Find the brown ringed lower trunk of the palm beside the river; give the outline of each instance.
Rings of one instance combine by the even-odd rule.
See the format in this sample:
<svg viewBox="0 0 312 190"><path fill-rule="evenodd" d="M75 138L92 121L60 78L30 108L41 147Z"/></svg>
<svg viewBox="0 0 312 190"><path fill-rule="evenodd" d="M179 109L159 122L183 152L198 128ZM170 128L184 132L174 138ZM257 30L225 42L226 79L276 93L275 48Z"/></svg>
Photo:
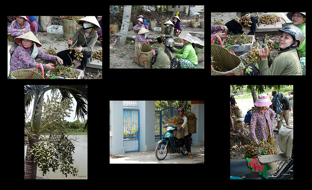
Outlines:
<svg viewBox="0 0 312 190"><path fill-rule="evenodd" d="M31 133L33 136L33 133ZM32 146L34 146L37 142L39 142L39 138L36 136L33 136L35 139L28 140L27 141L27 153L26 158L30 156L30 153L28 151L31 149ZM35 157L32 155L29 159L25 158L24 163L24 172L25 172L25 179L36 179L37 178L37 164L35 164L34 159Z"/></svg>

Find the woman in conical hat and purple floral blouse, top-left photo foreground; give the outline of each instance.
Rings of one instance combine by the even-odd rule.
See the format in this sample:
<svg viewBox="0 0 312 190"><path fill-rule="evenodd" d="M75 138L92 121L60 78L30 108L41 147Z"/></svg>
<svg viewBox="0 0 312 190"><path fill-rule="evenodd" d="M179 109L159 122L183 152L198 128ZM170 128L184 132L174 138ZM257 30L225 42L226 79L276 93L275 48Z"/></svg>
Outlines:
<svg viewBox="0 0 312 190"><path fill-rule="evenodd" d="M36 57L44 60L58 61L60 64L63 64L63 60L60 57L46 54L38 49L38 47L41 47L42 45L31 31L14 38L14 40L21 45L14 50L11 56L11 72L17 69L37 67L39 63L35 61ZM47 70L53 70L53 64L42 65L43 68Z"/></svg>

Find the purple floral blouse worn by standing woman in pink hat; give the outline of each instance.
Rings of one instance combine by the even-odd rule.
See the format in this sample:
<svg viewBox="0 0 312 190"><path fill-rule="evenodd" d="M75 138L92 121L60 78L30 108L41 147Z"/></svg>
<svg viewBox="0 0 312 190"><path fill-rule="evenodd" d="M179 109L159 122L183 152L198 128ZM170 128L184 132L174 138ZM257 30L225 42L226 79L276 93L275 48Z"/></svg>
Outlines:
<svg viewBox="0 0 312 190"><path fill-rule="evenodd" d="M256 109L252 112L251 121L250 121L250 131L252 140L268 140L268 134L266 130L266 120L269 123L270 134L271 137L274 137L273 130L272 130L272 123L274 120L275 112L267 107L264 111L264 115L260 109ZM257 130L257 133L256 131Z"/></svg>

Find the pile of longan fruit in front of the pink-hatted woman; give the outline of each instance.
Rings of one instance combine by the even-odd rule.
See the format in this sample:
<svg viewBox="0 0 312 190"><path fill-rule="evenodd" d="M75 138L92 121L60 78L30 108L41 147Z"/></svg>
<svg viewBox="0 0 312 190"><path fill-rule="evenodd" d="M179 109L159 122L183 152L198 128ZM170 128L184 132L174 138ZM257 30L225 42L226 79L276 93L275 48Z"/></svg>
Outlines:
<svg viewBox="0 0 312 190"><path fill-rule="evenodd" d="M260 149L260 150L259 150ZM261 151L261 153L259 152ZM266 143L265 141L259 141L259 146L255 144L249 144L245 148L245 158L256 158L256 155L270 155L277 154L277 149L273 147L270 143Z"/></svg>

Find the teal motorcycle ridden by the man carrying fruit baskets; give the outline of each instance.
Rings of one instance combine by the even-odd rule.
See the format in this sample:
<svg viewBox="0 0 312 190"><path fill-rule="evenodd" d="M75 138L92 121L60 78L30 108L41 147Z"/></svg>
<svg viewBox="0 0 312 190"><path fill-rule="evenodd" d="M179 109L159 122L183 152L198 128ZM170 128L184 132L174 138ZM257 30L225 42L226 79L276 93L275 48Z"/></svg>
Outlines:
<svg viewBox="0 0 312 190"><path fill-rule="evenodd" d="M181 121L178 121L178 124L181 124ZM164 122L163 122L164 124ZM185 148L183 139L177 139L173 137L173 131L176 131L178 128L174 125L166 127L166 132L163 134L163 139L159 140L155 149L155 157L158 160L163 160L166 158L168 152L178 153L181 158L182 155L188 155L188 151ZM190 144L192 143L192 138L189 138ZM182 154L182 155L181 155Z"/></svg>

